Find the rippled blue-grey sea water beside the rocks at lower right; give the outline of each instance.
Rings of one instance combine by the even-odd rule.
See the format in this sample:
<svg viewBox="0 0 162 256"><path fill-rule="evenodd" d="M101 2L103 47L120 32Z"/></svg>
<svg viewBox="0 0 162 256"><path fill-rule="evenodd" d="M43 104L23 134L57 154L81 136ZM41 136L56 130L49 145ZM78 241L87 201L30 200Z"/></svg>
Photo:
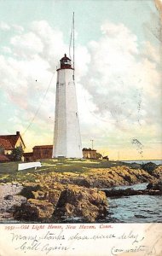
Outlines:
<svg viewBox="0 0 162 256"><path fill-rule="evenodd" d="M118 186L115 189L146 189L147 183ZM105 222L155 223L162 222L161 195L131 195L107 198L108 211Z"/></svg>

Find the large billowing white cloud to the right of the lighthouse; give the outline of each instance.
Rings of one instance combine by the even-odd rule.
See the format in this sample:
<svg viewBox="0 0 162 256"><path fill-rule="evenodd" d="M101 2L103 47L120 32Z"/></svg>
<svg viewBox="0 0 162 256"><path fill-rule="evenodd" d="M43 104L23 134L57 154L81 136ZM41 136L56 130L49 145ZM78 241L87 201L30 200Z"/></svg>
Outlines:
<svg viewBox="0 0 162 256"><path fill-rule="evenodd" d="M149 42L140 44L123 24L106 22L101 32L89 44L89 69L81 80L92 96L94 113L125 132L160 122L158 51Z"/></svg>

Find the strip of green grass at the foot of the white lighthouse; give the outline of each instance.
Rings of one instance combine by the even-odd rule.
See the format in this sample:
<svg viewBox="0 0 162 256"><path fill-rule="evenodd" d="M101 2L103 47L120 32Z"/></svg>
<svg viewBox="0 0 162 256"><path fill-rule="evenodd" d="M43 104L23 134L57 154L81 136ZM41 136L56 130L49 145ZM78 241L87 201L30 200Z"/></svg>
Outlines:
<svg viewBox="0 0 162 256"><path fill-rule="evenodd" d="M18 162L0 163L0 182L34 182L35 174L49 172L74 172L86 173L91 168L108 168L119 165L118 162L107 160L76 160L76 159L59 159L59 160L41 160L42 167L18 171Z"/></svg>

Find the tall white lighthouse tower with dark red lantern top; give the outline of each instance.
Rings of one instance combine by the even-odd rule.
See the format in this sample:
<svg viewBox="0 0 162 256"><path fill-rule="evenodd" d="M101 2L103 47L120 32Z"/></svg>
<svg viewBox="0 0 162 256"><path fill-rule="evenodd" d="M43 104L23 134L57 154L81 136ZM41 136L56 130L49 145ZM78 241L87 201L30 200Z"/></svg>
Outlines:
<svg viewBox="0 0 162 256"><path fill-rule="evenodd" d="M73 71L65 54L57 69L53 158L83 157Z"/></svg>

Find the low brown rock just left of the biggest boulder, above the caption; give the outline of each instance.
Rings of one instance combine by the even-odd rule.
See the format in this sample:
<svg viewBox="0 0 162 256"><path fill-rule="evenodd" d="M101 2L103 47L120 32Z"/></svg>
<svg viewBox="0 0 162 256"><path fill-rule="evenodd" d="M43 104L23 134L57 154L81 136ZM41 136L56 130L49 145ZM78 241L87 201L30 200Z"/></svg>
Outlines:
<svg viewBox="0 0 162 256"><path fill-rule="evenodd" d="M26 221L49 220L54 212L54 207L49 201L29 199L20 207L14 208L14 218Z"/></svg>

